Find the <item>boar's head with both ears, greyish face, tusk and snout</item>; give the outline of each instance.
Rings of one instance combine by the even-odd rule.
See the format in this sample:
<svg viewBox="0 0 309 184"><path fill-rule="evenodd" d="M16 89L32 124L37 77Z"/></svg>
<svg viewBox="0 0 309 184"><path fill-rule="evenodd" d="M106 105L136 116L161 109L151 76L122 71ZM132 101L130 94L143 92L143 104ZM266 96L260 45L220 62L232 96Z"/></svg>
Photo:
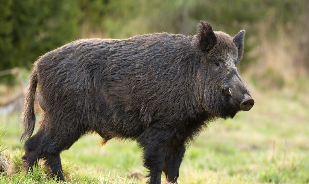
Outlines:
<svg viewBox="0 0 309 184"><path fill-rule="evenodd" d="M202 106L213 117L233 118L240 110L249 111L254 105L235 64L243 56L245 30L233 38L213 31L210 23L201 21L196 46L201 65L198 86Z"/></svg>

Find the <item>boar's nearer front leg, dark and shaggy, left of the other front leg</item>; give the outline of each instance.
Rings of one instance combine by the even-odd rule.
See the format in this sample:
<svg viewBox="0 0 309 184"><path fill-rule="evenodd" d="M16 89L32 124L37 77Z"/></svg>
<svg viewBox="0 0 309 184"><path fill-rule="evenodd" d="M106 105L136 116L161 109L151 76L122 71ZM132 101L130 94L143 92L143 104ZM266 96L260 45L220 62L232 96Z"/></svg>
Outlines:
<svg viewBox="0 0 309 184"><path fill-rule="evenodd" d="M155 127L148 128L137 142L143 148L144 166L149 170L149 184L160 184L164 160L171 141L171 131Z"/></svg>

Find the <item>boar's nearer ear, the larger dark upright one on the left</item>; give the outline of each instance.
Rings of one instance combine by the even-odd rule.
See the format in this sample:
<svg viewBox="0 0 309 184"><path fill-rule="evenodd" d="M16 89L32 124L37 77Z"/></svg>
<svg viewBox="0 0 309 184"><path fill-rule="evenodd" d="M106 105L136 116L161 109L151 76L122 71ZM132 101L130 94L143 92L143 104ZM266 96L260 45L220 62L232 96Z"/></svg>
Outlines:
<svg viewBox="0 0 309 184"><path fill-rule="evenodd" d="M217 39L210 23L200 21L197 28L197 39L199 47L204 52L209 52L214 47Z"/></svg>

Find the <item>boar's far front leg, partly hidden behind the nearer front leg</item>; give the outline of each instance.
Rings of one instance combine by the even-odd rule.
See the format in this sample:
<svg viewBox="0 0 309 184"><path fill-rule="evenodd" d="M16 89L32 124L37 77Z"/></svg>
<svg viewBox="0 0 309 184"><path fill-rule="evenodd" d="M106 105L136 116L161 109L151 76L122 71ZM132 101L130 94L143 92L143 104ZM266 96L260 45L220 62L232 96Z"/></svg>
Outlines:
<svg viewBox="0 0 309 184"><path fill-rule="evenodd" d="M163 172L166 180L171 183L177 183L179 176L179 167L184 158L186 146L184 141L172 140L169 145L169 150L165 157Z"/></svg>

